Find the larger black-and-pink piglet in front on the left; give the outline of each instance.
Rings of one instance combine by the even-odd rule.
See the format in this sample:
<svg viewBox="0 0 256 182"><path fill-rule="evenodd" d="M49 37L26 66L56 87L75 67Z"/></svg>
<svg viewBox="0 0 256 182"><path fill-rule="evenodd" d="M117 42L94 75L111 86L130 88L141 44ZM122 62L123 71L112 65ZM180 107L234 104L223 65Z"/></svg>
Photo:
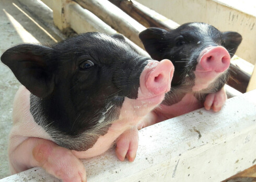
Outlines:
<svg viewBox="0 0 256 182"><path fill-rule="evenodd" d="M21 44L1 60L21 86L9 139L12 173L41 166L63 181L85 181L78 159L116 153L133 161L139 121L170 90L173 65L145 57L120 34L90 32L51 46Z"/></svg>

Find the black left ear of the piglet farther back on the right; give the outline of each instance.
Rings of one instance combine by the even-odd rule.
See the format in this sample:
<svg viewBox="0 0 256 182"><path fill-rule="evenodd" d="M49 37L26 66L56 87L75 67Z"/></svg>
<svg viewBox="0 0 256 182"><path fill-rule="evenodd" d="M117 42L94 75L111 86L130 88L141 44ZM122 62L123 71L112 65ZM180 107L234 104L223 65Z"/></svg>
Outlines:
<svg viewBox="0 0 256 182"><path fill-rule="evenodd" d="M139 33L141 39L148 54L156 60L160 60L160 55L166 47L166 34L169 33L167 30L159 28L148 28Z"/></svg>

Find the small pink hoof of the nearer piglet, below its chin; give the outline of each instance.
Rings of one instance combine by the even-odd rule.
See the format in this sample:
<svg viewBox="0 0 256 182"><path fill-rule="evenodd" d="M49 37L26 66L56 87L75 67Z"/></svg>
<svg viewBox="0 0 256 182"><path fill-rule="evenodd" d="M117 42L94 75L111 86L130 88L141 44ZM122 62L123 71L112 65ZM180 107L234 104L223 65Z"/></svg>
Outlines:
<svg viewBox="0 0 256 182"><path fill-rule="evenodd" d="M115 153L120 161L124 161L125 157L133 162L138 149L138 129L133 127L126 130L118 139Z"/></svg>

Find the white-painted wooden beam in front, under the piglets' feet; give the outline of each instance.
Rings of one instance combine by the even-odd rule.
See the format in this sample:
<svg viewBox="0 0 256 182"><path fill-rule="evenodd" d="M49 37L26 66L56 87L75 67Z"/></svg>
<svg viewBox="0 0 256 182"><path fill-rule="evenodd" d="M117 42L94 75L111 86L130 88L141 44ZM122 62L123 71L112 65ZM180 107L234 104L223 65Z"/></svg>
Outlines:
<svg viewBox="0 0 256 182"><path fill-rule="evenodd" d="M83 160L87 181L222 181L255 164L256 90L220 112L199 109L139 131L134 162L110 150ZM228 167L227 167L228 166ZM0 181L59 181L36 167Z"/></svg>

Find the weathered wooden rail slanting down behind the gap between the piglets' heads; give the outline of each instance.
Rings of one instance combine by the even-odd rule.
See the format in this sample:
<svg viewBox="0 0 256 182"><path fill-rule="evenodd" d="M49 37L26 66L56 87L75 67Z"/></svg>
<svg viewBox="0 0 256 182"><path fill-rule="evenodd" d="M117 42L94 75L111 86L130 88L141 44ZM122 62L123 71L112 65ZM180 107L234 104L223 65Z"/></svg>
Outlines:
<svg viewBox="0 0 256 182"><path fill-rule="evenodd" d="M138 38L139 32L146 28L131 18L120 8L113 5L107 0L74 0L80 6L88 9L102 21L110 25L114 30L124 34L132 42L139 47L144 47L141 40Z"/></svg>

